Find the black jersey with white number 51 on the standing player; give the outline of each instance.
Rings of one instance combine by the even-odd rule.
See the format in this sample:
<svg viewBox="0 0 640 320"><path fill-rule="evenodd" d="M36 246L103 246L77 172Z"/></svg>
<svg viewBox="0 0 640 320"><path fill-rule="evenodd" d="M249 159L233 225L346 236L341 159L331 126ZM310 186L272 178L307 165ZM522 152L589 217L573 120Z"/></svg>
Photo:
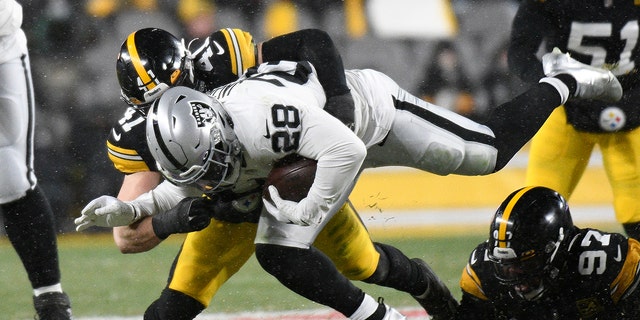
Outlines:
<svg viewBox="0 0 640 320"><path fill-rule="evenodd" d="M610 69L620 80L623 99L615 104L626 116L624 127L640 125L640 2L633 0L524 0L513 20L509 47L510 69L527 82L544 77L536 56L554 47L576 60ZM576 129L603 132L599 123L607 105L599 101L570 101L567 118Z"/></svg>

